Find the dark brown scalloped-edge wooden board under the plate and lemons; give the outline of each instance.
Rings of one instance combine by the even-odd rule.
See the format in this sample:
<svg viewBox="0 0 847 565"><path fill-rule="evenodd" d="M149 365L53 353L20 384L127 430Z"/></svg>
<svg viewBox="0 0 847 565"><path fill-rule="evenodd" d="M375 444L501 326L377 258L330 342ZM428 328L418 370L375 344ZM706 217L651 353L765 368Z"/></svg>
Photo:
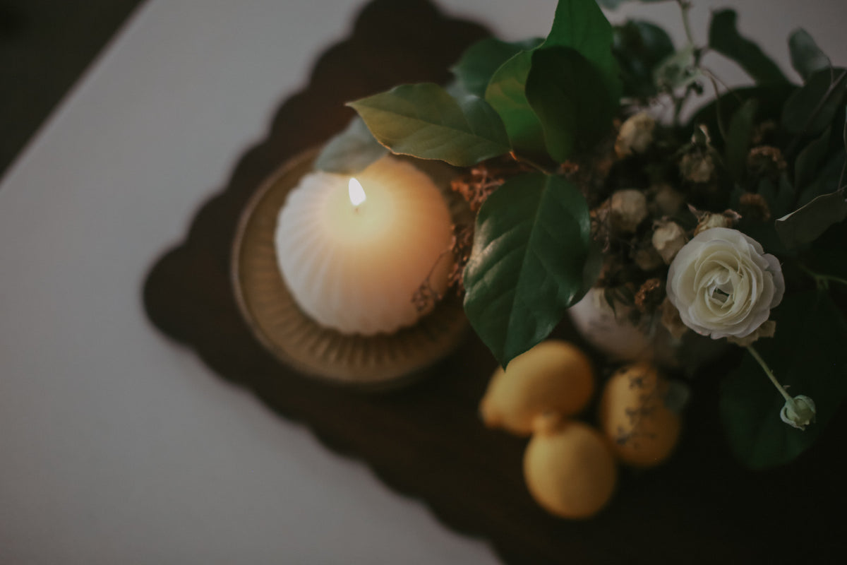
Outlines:
<svg viewBox="0 0 847 565"><path fill-rule="evenodd" d="M363 8L352 37L321 55L307 89L281 103L267 138L244 153L185 240L152 266L144 287L152 322L219 378L253 391L280 418L307 424L330 449L367 462L448 527L490 540L506 562L782 563L804 555L805 563L841 562L844 411L796 463L748 472L734 462L719 424L720 374L706 371L695 380L672 460L647 472L623 470L612 504L571 522L530 499L525 441L480 423L477 405L495 362L474 337L426 379L381 395L297 374L252 337L230 285L230 248L247 199L280 163L342 129L352 117L344 102L401 82L445 82L462 49L486 34L421 0Z"/></svg>

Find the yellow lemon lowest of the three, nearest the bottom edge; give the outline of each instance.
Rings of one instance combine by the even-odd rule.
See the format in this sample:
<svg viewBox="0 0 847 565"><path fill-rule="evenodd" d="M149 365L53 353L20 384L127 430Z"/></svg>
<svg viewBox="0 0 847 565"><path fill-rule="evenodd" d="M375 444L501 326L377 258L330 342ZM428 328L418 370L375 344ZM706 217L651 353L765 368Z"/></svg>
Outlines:
<svg viewBox="0 0 847 565"><path fill-rule="evenodd" d="M612 498L617 468L600 432L565 421L533 435L523 455L523 477L529 494L547 512L588 518Z"/></svg>

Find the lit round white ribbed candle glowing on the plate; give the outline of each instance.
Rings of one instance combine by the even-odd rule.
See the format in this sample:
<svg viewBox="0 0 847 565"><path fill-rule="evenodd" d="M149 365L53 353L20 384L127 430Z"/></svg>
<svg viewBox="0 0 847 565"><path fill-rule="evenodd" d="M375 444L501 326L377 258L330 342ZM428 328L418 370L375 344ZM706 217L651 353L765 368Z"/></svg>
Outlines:
<svg viewBox="0 0 847 565"><path fill-rule="evenodd" d="M424 282L446 290L451 215L429 176L385 157L358 173L303 176L280 211L276 252L291 296L318 324L346 334L414 324Z"/></svg>

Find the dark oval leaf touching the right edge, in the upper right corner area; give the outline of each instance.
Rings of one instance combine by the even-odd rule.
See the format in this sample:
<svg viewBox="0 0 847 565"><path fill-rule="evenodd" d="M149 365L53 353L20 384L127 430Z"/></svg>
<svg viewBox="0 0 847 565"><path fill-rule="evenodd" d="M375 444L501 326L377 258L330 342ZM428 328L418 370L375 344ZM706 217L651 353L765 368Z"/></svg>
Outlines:
<svg viewBox="0 0 847 565"><path fill-rule="evenodd" d="M817 71L785 101L783 128L798 136L822 132L839 111L845 91L847 69Z"/></svg>

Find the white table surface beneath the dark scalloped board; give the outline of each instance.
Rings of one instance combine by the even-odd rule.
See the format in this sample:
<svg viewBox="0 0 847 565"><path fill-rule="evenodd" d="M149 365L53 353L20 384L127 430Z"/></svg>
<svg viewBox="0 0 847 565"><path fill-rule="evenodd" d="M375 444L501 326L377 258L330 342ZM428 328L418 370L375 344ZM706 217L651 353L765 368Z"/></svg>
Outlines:
<svg viewBox="0 0 847 565"><path fill-rule="evenodd" d="M224 383L141 307L152 262L360 4L151 0L3 179L0 562L496 562ZM440 4L507 39L545 34L555 6ZM698 4L705 39L718 3ZM797 25L847 63L842 0L735 4L783 69ZM673 3L613 19L635 11L681 40Z"/></svg>

